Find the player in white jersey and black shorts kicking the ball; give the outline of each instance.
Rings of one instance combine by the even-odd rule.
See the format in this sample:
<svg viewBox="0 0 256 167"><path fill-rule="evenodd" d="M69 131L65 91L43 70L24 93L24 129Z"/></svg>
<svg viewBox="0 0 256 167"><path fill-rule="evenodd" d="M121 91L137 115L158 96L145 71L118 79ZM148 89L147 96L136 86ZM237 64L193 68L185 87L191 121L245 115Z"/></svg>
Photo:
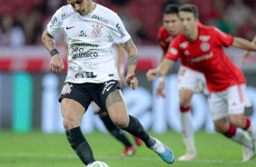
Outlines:
<svg viewBox="0 0 256 167"><path fill-rule="evenodd" d="M64 31L68 44L68 72L59 98L64 116L64 129L77 156L88 165L94 154L81 132L81 121L91 101L106 110L113 123L145 142L164 162L174 162L170 148L153 138L143 125L129 115L118 83L119 76L111 50L113 43L121 44L128 54L126 83L136 89L134 71L138 54L130 34L121 19L110 9L92 0L67 0L56 11L42 35L45 47L52 55L50 69L59 73L63 60L55 48L54 35Z"/></svg>

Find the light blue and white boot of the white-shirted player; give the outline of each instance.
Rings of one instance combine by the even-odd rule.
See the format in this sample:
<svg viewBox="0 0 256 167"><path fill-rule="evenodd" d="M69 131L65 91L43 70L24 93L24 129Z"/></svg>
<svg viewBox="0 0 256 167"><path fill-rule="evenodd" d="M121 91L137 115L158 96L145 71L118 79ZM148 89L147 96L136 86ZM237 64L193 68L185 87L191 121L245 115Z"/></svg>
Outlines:
<svg viewBox="0 0 256 167"><path fill-rule="evenodd" d="M159 140L155 139L156 143L151 147L153 152L156 152L164 162L172 164L174 162L174 154L172 150L164 145Z"/></svg>

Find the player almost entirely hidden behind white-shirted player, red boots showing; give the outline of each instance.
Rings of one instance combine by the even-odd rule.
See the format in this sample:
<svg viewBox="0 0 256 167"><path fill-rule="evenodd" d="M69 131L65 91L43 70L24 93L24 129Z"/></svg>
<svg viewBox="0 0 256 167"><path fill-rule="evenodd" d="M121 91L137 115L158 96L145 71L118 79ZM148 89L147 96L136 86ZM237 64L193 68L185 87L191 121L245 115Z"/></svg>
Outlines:
<svg viewBox="0 0 256 167"><path fill-rule="evenodd" d="M113 49L113 59L114 64L117 68L117 73L119 75L119 83L123 87L127 85L125 83L124 77L124 49L121 45L117 46L118 49ZM117 51L116 51L117 50ZM66 45L66 58L68 56L68 48ZM123 130L118 128L111 120L109 114L106 111L103 111L96 103L92 102L92 106L94 109L94 113L99 114L100 119L103 121L106 129L115 137L118 141L122 142L124 147L124 151L122 156L130 156L136 152L136 147L133 146L133 143L129 141L129 139L123 133ZM135 136L133 136L136 145L140 146L143 144L143 141Z"/></svg>

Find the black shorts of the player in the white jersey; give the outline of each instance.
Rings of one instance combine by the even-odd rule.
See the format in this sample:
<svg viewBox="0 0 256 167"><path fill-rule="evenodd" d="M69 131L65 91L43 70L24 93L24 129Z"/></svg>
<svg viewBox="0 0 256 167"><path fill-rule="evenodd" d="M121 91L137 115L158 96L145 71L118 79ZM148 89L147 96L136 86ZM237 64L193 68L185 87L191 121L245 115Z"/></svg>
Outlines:
<svg viewBox="0 0 256 167"><path fill-rule="evenodd" d="M64 83L59 102L64 98L73 99L81 103L85 110L88 109L92 101L96 103L102 110L106 111L106 98L109 93L115 89L121 89L118 81L110 80L104 83Z"/></svg>

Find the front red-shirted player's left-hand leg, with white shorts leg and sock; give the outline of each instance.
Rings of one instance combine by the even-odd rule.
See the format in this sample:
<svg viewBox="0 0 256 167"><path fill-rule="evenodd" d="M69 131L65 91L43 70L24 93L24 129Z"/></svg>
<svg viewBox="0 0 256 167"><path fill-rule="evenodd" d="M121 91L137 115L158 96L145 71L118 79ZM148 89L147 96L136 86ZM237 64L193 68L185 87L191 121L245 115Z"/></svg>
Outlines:
<svg viewBox="0 0 256 167"><path fill-rule="evenodd" d="M227 121L227 117L229 116L229 105L226 100L226 92L211 93L208 97L209 109L215 131L222 133L224 136L230 138L234 142L241 143L242 145L253 149L251 136L241 128L237 128ZM251 156L252 155L250 152L248 157Z"/></svg>

